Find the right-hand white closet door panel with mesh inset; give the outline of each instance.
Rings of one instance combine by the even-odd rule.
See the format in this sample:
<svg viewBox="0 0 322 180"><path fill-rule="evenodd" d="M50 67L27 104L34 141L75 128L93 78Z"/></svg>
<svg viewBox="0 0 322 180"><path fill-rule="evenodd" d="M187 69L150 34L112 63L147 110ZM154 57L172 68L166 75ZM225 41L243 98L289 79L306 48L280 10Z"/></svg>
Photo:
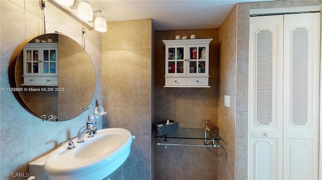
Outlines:
<svg viewBox="0 0 322 180"><path fill-rule="evenodd" d="M284 179L318 179L320 13L284 15Z"/></svg>

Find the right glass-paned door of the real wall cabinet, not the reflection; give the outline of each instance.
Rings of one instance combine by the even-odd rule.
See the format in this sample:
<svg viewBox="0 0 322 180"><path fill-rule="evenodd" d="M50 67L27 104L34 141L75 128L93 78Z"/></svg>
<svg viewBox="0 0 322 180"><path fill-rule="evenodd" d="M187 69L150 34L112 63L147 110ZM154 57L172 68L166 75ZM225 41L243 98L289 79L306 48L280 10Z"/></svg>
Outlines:
<svg viewBox="0 0 322 180"><path fill-rule="evenodd" d="M189 49L189 63L188 75L204 75L206 73L206 49L205 45L188 46Z"/></svg>

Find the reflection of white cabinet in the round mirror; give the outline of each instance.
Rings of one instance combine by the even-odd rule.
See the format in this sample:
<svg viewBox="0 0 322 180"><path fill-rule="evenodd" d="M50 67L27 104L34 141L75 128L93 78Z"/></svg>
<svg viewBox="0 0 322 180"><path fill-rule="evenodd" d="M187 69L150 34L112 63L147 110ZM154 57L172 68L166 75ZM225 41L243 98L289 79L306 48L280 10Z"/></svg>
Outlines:
<svg viewBox="0 0 322 180"><path fill-rule="evenodd" d="M22 85L58 85L58 43L29 43L23 53Z"/></svg>

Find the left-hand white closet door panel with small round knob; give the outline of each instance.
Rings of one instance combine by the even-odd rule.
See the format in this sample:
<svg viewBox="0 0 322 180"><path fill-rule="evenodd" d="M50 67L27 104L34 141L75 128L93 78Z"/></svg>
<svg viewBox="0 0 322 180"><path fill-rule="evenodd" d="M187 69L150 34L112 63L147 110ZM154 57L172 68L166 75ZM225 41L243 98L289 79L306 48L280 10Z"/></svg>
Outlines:
<svg viewBox="0 0 322 180"><path fill-rule="evenodd" d="M281 179L283 15L250 19L250 179Z"/></svg>

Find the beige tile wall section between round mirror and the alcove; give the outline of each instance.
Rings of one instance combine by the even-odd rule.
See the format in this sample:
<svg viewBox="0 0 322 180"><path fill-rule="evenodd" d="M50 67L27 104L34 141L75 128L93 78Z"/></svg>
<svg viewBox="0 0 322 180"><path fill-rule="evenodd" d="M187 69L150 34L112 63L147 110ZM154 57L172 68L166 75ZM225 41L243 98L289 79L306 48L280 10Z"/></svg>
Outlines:
<svg viewBox="0 0 322 180"><path fill-rule="evenodd" d="M102 36L103 127L123 127L136 139L126 179L151 177L152 20L108 22ZM109 178L119 179L120 169Z"/></svg>

